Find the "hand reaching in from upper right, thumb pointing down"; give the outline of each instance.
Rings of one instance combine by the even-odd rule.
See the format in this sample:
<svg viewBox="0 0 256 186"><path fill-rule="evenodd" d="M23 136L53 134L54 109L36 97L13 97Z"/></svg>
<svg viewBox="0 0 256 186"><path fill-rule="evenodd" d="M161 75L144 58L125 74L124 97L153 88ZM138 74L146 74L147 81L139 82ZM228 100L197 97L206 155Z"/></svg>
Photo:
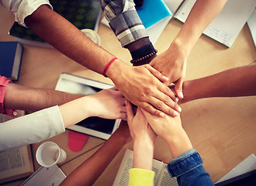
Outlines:
<svg viewBox="0 0 256 186"><path fill-rule="evenodd" d="M177 47L177 45L171 44L168 50L150 62L154 69L168 77L169 80L165 84L175 84L175 93L178 98L184 97L182 84L185 79L186 60L187 53Z"/></svg>

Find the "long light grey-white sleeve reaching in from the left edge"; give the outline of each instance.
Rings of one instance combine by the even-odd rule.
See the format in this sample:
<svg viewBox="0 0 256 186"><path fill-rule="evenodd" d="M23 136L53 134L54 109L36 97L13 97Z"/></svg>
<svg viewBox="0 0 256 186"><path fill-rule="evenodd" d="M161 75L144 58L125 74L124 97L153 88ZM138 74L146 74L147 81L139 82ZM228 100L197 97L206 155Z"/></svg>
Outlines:
<svg viewBox="0 0 256 186"><path fill-rule="evenodd" d="M0 123L0 152L38 143L64 133L61 111L56 105Z"/></svg>

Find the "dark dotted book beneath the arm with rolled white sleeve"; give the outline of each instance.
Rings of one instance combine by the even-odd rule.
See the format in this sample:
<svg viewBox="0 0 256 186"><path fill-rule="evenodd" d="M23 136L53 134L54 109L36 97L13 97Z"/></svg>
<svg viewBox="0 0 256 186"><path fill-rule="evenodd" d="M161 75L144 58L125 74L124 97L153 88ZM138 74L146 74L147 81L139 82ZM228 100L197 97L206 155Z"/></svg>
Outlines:
<svg viewBox="0 0 256 186"><path fill-rule="evenodd" d="M55 12L62 15L78 29L93 29L97 32L101 15L99 2L94 0L50 0L50 4ZM15 40L22 44L51 47L31 29L20 26L17 22L13 24L9 35L15 36Z"/></svg>

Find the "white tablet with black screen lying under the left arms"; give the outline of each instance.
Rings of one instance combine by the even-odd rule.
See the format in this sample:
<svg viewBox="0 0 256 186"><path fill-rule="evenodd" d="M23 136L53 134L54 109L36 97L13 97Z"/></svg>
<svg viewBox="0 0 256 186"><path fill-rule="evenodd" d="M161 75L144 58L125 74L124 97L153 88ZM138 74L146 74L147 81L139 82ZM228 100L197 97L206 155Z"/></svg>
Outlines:
<svg viewBox="0 0 256 186"><path fill-rule="evenodd" d="M112 87L111 84L93 81L73 74L62 73L57 81L55 90L80 95L93 95L98 91ZM112 133L118 128L120 121L121 119L89 117L67 129L108 140Z"/></svg>

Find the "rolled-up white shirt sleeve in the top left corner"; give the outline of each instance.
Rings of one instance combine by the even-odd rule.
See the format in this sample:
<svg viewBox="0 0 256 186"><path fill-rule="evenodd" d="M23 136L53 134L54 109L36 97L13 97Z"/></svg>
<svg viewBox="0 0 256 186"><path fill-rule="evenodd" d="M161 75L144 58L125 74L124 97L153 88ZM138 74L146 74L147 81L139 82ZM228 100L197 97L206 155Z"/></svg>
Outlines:
<svg viewBox="0 0 256 186"><path fill-rule="evenodd" d="M31 15L40 7L40 5L48 5L53 9L48 0L0 0L2 5L5 6L15 16L15 21L21 26L25 26L24 19L26 16Z"/></svg>

